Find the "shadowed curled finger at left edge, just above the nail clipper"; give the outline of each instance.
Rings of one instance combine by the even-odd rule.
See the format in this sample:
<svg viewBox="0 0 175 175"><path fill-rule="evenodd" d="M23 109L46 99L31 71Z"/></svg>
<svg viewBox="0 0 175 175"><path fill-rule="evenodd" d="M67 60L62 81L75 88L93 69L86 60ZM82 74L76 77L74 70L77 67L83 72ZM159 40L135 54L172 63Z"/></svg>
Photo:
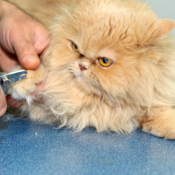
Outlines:
<svg viewBox="0 0 175 175"><path fill-rule="evenodd" d="M10 72L18 65L17 58L9 54L0 46L0 68L4 72Z"/></svg>

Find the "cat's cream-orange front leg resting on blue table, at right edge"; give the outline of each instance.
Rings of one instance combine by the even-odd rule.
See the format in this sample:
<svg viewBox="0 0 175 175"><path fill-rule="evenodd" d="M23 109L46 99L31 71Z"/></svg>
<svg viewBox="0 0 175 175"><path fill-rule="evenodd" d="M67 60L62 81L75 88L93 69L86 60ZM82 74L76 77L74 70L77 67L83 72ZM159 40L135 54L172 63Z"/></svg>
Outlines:
<svg viewBox="0 0 175 175"><path fill-rule="evenodd" d="M165 139L175 139L175 109L154 107L141 120L142 130Z"/></svg>

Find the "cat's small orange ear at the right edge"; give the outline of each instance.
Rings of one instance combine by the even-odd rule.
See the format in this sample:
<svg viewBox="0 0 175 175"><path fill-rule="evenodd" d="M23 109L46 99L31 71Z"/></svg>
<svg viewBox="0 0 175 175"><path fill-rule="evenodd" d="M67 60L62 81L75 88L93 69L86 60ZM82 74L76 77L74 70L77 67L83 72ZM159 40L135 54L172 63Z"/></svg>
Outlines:
<svg viewBox="0 0 175 175"><path fill-rule="evenodd" d="M165 37L169 33L171 33L175 29L175 21L168 20L168 19L160 19L160 31L159 31L159 37Z"/></svg>

